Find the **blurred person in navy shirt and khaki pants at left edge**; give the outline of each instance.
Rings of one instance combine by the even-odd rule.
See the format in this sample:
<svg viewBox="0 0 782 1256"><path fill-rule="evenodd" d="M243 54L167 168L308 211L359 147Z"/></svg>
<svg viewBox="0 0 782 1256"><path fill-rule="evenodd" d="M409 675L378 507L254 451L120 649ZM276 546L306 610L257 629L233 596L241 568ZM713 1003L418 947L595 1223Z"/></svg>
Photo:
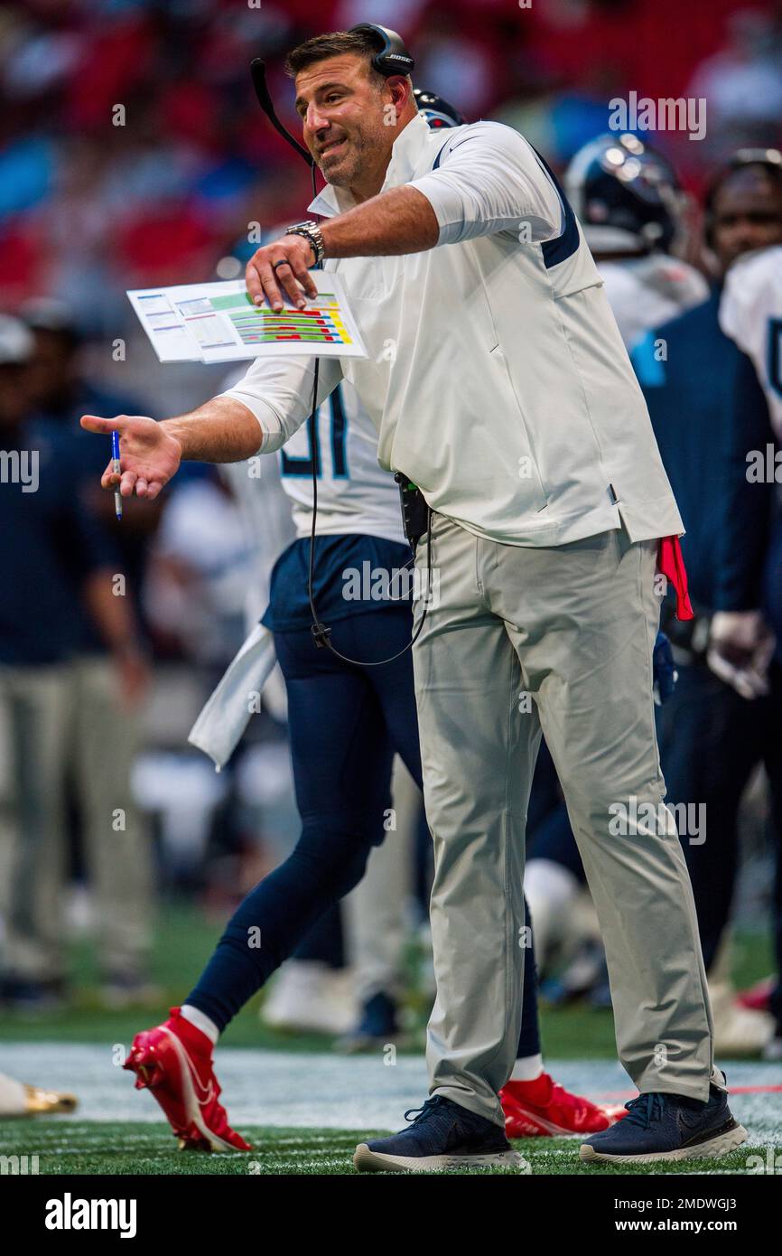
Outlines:
<svg viewBox="0 0 782 1256"><path fill-rule="evenodd" d="M129 759L110 759L112 746L126 736L112 727L124 718L115 691L132 698L143 682L137 628L129 599L113 594L118 553L79 491L90 474L89 456L85 467L74 458L82 435L36 407L35 352L24 323L0 318L0 531L6 538L0 548L0 717L9 740L0 806L0 1001L21 1010L56 1005L65 988L67 786L79 744L82 782L88 777L80 798L89 799L82 831L100 909L107 995L124 995L141 978L149 906L144 848L132 828ZM85 648L105 658L103 702L112 708L108 726L100 726L105 740L100 728L82 725L90 712L97 717L78 679ZM108 795L99 794L105 780ZM113 826L115 808L124 809L129 829Z"/></svg>

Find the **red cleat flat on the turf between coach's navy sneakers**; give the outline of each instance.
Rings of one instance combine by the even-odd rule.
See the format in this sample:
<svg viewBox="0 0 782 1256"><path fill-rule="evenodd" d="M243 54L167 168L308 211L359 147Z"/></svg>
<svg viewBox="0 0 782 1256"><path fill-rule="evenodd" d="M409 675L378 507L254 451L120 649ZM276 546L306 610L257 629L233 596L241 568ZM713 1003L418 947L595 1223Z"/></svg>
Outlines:
<svg viewBox="0 0 782 1256"><path fill-rule="evenodd" d="M508 1081L500 1091L508 1138L596 1134L626 1115L620 1104L595 1104L557 1085L547 1073L535 1081Z"/></svg>

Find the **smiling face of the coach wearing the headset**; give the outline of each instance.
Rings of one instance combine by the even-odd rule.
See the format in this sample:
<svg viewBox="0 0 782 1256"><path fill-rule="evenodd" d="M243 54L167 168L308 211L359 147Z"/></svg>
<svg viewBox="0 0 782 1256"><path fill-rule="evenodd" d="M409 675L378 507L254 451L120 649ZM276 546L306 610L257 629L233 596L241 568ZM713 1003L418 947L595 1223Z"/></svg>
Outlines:
<svg viewBox="0 0 782 1256"><path fill-rule="evenodd" d="M382 79L358 53L300 70L296 111L324 178L360 198L380 191L394 139L415 113L409 80Z"/></svg>

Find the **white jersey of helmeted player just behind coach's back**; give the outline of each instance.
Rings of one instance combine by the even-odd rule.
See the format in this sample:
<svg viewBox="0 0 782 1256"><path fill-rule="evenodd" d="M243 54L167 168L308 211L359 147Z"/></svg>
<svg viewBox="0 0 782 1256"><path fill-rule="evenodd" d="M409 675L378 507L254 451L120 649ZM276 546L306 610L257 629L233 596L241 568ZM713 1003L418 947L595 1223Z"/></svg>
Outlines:
<svg viewBox="0 0 782 1256"><path fill-rule="evenodd" d="M700 305L709 295L700 271L664 252L599 261L597 270L628 349L650 328Z"/></svg>

